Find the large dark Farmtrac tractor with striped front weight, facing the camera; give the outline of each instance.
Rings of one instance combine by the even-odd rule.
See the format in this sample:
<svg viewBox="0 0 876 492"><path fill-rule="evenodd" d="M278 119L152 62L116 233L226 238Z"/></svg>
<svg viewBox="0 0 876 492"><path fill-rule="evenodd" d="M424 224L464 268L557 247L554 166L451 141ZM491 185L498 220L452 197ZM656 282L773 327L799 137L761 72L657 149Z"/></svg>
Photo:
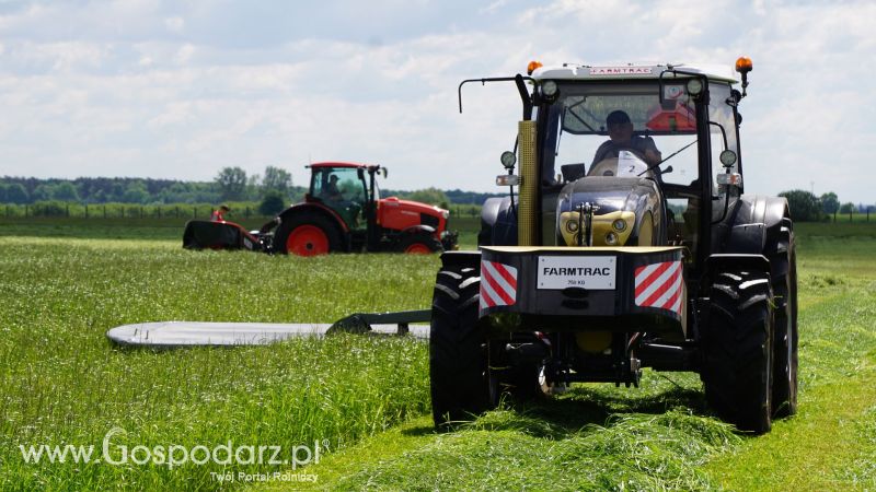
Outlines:
<svg viewBox="0 0 876 492"><path fill-rule="evenodd" d="M751 67L736 62L741 92L731 70L685 65L533 62L460 84L460 112L468 82L512 82L523 112L479 250L441 255L438 429L504 394L637 387L644 367L699 373L708 407L742 432L796 412L793 223L784 198L744 192Z"/></svg>

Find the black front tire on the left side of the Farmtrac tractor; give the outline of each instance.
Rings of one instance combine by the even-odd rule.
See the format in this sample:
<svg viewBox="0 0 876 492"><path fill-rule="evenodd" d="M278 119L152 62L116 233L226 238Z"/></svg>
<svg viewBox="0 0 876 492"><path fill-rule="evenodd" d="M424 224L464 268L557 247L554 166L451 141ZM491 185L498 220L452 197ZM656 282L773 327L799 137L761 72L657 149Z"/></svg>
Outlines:
<svg viewBox="0 0 876 492"><path fill-rule="evenodd" d="M477 325L480 270L448 266L438 271L431 305L429 377L438 430L472 420L489 408L486 337Z"/></svg>

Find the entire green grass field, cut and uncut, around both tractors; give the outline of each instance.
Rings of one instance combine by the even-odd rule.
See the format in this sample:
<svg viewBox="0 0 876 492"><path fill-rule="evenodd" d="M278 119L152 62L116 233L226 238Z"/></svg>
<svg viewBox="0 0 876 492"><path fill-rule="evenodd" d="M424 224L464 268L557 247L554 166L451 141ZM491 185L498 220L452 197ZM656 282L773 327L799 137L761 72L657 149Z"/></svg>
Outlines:
<svg viewBox="0 0 876 492"><path fill-rule="evenodd" d="M154 352L104 337L142 321L424 308L437 257L197 253L168 221L0 222L0 488L297 489L290 465L246 458L250 446L281 447L283 458L298 446L320 449L319 464L293 470L320 489L873 490L876 225L798 224L797 234L800 408L772 433L740 436L713 418L694 374L646 372L639 389L579 385L439 435L423 342ZM25 462L20 448L92 445L96 456L115 427L113 459L130 454L120 465ZM243 459L155 464L174 445L227 444ZM261 480L273 472L286 476Z"/></svg>

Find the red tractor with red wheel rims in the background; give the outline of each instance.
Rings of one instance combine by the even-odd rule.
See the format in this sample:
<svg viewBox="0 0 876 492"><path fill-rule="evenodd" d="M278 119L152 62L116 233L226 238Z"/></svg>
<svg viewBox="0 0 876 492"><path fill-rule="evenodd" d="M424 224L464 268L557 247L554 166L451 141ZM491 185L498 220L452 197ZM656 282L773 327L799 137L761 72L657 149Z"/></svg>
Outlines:
<svg viewBox="0 0 876 492"><path fill-rule="evenodd" d="M275 253L436 253L457 247L457 234L447 230L448 210L396 197L380 198L376 176L385 177L385 167L343 162L308 167L311 178L304 201L284 210L261 230L267 237L276 227L272 239Z"/></svg>

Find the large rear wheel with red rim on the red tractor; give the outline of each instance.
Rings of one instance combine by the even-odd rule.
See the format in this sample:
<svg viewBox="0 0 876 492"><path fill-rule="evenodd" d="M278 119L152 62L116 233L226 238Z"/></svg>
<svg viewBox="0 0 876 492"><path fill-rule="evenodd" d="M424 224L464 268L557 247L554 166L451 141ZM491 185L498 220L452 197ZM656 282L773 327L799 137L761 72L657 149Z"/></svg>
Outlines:
<svg viewBox="0 0 876 492"><path fill-rule="evenodd" d="M280 222L274 234L274 250L283 255L327 255L341 250L341 232L328 219L297 214Z"/></svg>

